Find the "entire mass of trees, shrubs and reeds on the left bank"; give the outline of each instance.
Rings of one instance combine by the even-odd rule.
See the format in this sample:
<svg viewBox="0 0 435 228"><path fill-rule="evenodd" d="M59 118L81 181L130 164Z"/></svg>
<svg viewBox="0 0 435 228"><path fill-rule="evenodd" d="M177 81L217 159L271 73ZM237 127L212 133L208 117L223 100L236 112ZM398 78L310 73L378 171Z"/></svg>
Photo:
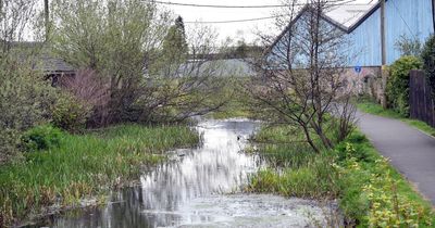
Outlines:
<svg viewBox="0 0 435 228"><path fill-rule="evenodd" d="M53 0L47 17L37 1L2 5L0 227L197 143L187 119L225 102L212 99L224 86L215 31L185 30L153 2Z"/></svg>

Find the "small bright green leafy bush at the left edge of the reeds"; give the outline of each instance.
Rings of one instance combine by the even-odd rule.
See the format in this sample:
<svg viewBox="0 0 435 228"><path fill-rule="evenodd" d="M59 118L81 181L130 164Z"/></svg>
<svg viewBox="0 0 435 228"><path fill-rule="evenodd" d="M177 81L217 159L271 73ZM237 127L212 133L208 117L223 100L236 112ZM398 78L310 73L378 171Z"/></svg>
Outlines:
<svg viewBox="0 0 435 228"><path fill-rule="evenodd" d="M25 151L40 151L60 145L62 131L51 125L34 127L21 137L22 147Z"/></svg>

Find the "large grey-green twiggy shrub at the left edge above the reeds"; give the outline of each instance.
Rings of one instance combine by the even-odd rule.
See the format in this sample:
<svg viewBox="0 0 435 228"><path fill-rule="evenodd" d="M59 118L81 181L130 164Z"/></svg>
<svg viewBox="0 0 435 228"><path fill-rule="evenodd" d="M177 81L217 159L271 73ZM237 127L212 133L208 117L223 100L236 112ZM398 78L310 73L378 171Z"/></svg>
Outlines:
<svg viewBox="0 0 435 228"><path fill-rule="evenodd" d="M0 59L0 163L20 155L21 132L48 122L55 102L57 90L32 68L30 54L17 55Z"/></svg>

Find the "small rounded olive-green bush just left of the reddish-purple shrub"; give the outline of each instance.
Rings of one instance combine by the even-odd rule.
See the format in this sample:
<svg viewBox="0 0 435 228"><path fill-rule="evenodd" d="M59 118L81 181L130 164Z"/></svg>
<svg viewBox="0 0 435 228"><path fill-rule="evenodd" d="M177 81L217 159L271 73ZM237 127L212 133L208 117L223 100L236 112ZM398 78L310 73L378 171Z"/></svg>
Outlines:
<svg viewBox="0 0 435 228"><path fill-rule="evenodd" d="M64 92L54 106L53 124L70 132L82 132L86 128L86 122L91 115L91 105Z"/></svg>

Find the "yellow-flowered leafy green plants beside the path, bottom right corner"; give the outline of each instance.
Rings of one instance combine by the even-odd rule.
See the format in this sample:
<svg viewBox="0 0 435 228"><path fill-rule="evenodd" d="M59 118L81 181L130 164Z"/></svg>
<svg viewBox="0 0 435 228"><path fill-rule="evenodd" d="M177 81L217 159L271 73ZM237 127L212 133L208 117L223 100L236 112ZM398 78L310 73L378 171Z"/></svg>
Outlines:
<svg viewBox="0 0 435 228"><path fill-rule="evenodd" d="M381 226L381 218L388 217L383 213L388 212L400 219L394 218L386 224L409 220L410 224L405 223L401 226L411 227L418 224L420 227L431 227L435 219L432 204L380 155L365 136L359 131L353 132L337 147L336 152L336 163L341 176L340 207L357 225L365 227L374 223L375 226ZM364 191L364 187L369 185L374 190ZM373 197L370 197L371 192ZM397 203L394 203L395 198L398 198ZM375 203L380 203L378 208L375 208ZM396 212L395 207L400 212ZM374 216L375 213L380 215ZM415 214L410 216L412 213Z"/></svg>

